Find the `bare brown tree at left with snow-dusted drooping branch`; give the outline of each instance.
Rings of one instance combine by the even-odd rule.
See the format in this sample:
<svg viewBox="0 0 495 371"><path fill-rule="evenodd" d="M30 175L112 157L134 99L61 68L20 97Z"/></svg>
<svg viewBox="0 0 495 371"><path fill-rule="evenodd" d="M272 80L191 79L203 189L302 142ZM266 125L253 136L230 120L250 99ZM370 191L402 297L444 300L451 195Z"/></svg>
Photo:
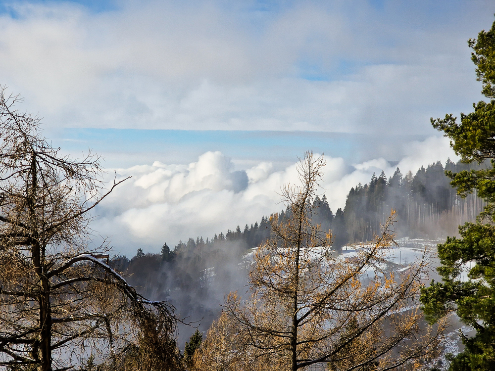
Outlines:
<svg viewBox="0 0 495 371"><path fill-rule="evenodd" d="M120 182L105 190L96 156L61 156L18 102L0 90L0 367L69 370L170 339L173 308L129 286L104 244L88 247L88 212ZM173 341L155 343L174 357Z"/></svg>

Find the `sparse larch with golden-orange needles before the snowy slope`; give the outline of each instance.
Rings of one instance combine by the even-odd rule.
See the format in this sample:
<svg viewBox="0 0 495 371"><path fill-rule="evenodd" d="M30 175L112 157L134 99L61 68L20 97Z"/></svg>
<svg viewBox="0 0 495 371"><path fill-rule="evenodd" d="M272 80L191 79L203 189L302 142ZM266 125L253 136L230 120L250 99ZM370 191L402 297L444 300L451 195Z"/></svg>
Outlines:
<svg viewBox="0 0 495 371"><path fill-rule="evenodd" d="M443 330L422 327L415 309L426 258L400 277L387 270L393 216L356 256L336 256L331 232L311 223L324 164L309 152L301 160L301 186L282 192L289 212L270 220L273 235L254 253L252 294L227 300L239 346L292 371L316 364L328 370L412 368L435 351Z"/></svg>

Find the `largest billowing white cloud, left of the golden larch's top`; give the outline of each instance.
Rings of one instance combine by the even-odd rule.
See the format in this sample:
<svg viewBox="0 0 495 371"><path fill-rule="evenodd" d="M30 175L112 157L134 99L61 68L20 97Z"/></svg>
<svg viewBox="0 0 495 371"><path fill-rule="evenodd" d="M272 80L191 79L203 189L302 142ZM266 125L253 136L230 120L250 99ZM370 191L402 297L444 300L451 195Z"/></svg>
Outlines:
<svg viewBox="0 0 495 371"><path fill-rule="evenodd" d="M126 251L134 244L156 247L165 240L211 237L252 223L281 209L274 190L297 175L294 165L283 172L272 169L261 163L247 172L233 171L230 158L220 152L206 152L188 166L154 163L118 169L119 177L133 178L99 207L98 232L112 235L113 244Z"/></svg>

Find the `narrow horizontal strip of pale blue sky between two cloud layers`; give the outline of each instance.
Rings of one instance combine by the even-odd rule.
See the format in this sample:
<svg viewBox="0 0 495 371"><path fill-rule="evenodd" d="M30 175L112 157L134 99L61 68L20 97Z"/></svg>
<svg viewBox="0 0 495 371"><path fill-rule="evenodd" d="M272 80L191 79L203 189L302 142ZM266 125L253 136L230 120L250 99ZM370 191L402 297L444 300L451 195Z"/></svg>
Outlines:
<svg viewBox="0 0 495 371"><path fill-rule="evenodd" d="M234 158L237 168L263 160L280 163L296 161L306 150L343 157L349 164L386 157L398 161L403 146L390 142L421 141L426 135L349 134L309 131L245 130L140 130L65 128L51 137L65 153L78 155L93 151L104 154L105 165L128 166L130 156L137 163L159 159L165 163L190 163L207 151L220 151ZM373 143L373 145L370 145ZM151 161L152 162L152 161Z"/></svg>

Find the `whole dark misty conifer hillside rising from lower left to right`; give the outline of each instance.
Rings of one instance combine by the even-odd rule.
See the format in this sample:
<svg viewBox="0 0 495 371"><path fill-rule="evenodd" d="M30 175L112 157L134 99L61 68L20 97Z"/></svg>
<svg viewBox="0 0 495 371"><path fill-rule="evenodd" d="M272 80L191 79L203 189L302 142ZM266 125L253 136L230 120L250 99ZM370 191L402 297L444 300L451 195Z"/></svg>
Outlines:
<svg viewBox="0 0 495 371"><path fill-rule="evenodd" d="M398 237L425 237L435 239L456 233L457 225L471 220L485 203L474 193L461 198L450 186L445 172L484 168L485 165L452 163L445 166L436 162L421 167L413 176L402 176L400 169L387 179L382 172L373 175L365 185L352 187L347 195L346 207L331 210L326 195L313 201L312 223L320 224L322 231L334 234L333 248L337 251L346 244L369 241L380 230L390 215L397 212L395 223ZM282 223L290 218L290 208L262 216L243 229L213 234L212 237L189 237L174 247L164 243L161 253L150 254L139 249L136 256L114 257L112 264L126 272L129 282L143 295L154 300L168 300L181 313L201 320L200 329L216 318L225 295L242 290L246 284L249 263L246 255L251 248L266 241L271 233L270 219ZM184 343L189 334L181 334Z"/></svg>

